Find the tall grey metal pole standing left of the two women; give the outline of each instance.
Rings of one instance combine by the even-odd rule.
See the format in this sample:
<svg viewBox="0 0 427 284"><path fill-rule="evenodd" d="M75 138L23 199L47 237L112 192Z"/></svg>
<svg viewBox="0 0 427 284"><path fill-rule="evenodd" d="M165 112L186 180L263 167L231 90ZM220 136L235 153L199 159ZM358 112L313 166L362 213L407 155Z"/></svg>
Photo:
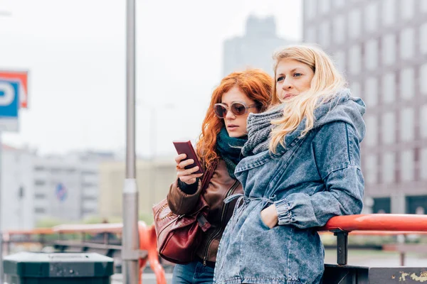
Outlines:
<svg viewBox="0 0 427 284"><path fill-rule="evenodd" d="M123 188L123 283L139 282L138 189L135 166L135 0L126 17L126 178Z"/></svg>

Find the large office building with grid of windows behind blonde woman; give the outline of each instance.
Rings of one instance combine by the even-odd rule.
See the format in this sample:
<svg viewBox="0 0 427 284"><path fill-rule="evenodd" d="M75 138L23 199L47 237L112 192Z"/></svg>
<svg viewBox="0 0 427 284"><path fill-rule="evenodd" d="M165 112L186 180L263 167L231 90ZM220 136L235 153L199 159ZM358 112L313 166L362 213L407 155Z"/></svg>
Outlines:
<svg viewBox="0 0 427 284"><path fill-rule="evenodd" d="M305 0L303 30L367 104L367 209L427 213L427 1Z"/></svg>

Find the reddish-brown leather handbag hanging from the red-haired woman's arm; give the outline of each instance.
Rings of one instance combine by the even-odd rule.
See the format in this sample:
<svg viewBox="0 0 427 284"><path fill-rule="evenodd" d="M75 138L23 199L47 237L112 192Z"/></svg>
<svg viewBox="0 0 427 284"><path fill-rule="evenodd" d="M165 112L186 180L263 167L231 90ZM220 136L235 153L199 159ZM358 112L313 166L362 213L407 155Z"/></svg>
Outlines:
<svg viewBox="0 0 427 284"><path fill-rule="evenodd" d="M202 190L205 190L214 175L216 163L207 170L201 180ZM157 251L159 256L172 263L190 263L194 261L202 231L211 227L206 219L209 206L203 195L190 214L174 214L162 200L152 207L154 213L154 227L157 234Z"/></svg>

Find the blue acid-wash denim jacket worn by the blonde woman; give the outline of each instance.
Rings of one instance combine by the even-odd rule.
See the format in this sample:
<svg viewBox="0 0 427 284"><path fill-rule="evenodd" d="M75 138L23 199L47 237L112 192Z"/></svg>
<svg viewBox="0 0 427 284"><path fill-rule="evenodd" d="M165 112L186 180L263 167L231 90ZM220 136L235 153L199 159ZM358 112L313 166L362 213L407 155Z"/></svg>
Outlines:
<svg viewBox="0 0 427 284"><path fill-rule="evenodd" d="M344 89L315 109L315 127L305 136L303 120L277 154L241 160L236 177L244 196L221 239L214 283L320 283L324 248L316 227L362 211L364 110ZM278 212L273 229L260 219L271 204Z"/></svg>

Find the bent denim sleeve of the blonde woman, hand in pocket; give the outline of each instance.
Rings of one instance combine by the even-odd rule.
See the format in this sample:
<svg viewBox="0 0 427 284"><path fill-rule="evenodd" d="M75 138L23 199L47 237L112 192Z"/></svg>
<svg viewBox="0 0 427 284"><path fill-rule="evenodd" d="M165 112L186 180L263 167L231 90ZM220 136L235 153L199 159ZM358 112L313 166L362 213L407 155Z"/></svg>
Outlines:
<svg viewBox="0 0 427 284"><path fill-rule="evenodd" d="M276 201L279 225L306 229L324 226L334 216L360 214L364 178L359 142L350 124L335 121L322 126L312 141L312 151L325 190L314 195L292 193Z"/></svg>

